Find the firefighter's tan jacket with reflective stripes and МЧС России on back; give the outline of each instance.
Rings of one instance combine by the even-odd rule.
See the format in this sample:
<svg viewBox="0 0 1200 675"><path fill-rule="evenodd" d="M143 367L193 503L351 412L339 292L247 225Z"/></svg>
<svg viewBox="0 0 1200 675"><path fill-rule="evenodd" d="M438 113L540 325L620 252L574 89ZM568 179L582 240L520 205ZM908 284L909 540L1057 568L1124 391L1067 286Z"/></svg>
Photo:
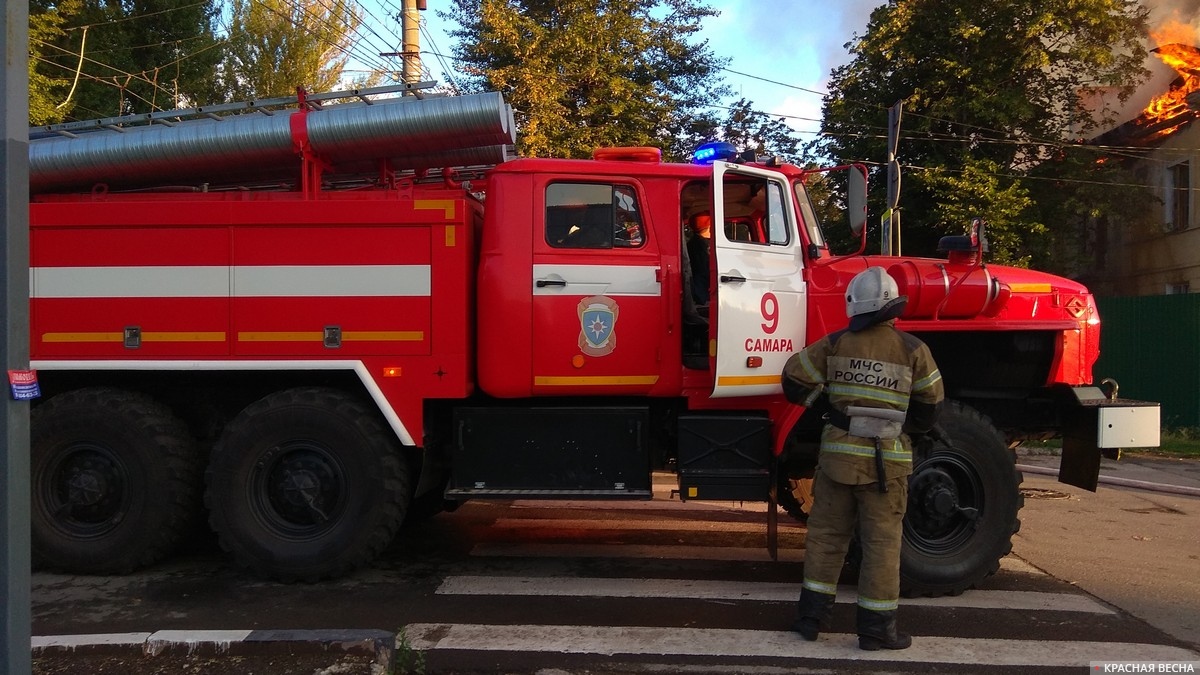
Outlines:
<svg viewBox="0 0 1200 675"><path fill-rule="evenodd" d="M784 394L811 407L822 394L834 412L821 434L821 468L832 479L862 485L878 479L875 440L838 425L846 408L862 406L906 413L904 431L881 441L884 478L912 473L907 434L932 429L944 396L942 376L929 347L886 321L859 331L832 333L793 354L784 366Z"/></svg>

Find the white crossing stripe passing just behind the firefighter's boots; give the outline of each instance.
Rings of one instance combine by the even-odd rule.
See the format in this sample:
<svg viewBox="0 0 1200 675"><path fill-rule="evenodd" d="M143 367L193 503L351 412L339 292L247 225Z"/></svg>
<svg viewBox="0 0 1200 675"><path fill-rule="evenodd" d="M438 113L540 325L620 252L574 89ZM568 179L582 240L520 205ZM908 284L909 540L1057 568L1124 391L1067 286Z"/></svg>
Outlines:
<svg viewBox="0 0 1200 675"><path fill-rule="evenodd" d="M692 579L608 579L578 577L446 577L442 596L563 596L596 598L686 598L704 601L794 602L799 584ZM840 603L854 603L853 589L838 591ZM902 599L904 607L1012 609L1115 614L1082 595L1034 591L972 591L956 597Z"/></svg>

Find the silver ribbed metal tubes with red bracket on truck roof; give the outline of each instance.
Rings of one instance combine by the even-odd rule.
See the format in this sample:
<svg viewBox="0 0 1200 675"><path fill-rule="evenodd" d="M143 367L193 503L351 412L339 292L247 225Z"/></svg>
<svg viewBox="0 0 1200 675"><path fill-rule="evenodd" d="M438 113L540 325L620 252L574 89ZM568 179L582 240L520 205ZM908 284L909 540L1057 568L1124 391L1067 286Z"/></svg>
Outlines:
<svg viewBox="0 0 1200 675"><path fill-rule="evenodd" d="M499 92L438 96L425 91L433 84L300 90L34 127L30 193L293 183L316 193L326 177L391 183L400 171L491 167L511 156L516 125Z"/></svg>

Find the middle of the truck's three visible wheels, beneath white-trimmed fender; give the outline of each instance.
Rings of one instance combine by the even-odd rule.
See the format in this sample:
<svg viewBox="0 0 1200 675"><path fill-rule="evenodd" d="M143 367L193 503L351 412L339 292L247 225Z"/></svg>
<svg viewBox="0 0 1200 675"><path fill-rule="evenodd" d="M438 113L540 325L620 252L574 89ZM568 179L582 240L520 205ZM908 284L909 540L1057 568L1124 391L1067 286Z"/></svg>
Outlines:
<svg viewBox="0 0 1200 675"><path fill-rule="evenodd" d="M251 404L206 473L209 522L251 572L338 577L391 542L409 500L407 464L378 412L343 392L298 388Z"/></svg>

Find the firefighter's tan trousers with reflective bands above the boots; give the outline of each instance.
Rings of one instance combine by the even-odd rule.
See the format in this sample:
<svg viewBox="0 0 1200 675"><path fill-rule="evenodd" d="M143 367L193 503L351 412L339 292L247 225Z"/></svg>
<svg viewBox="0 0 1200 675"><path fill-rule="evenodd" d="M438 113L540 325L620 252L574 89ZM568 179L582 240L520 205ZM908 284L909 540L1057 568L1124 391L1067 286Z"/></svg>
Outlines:
<svg viewBox="0 0 1200 675"><path fill-rule="evenodd" d="M820 593L838 591L846 551L856 526L863 549L858 573L858 605L892 611L900 599L900 539L908 502L908 477L846 485L817 467L812 482L812 513L804 544L804 587Z"/></svg>

